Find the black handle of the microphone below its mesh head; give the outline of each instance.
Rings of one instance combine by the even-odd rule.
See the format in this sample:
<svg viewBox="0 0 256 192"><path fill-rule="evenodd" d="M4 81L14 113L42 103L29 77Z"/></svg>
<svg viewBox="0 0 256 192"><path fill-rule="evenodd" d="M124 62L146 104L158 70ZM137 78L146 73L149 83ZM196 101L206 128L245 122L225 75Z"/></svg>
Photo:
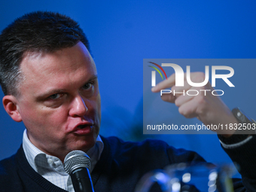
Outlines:
<svg viewBox="0 0 256 192"><path fill-rule="evenodd" d="M70 174L75 192L94 192L90 171L86 167L79 167Z"/></svg>

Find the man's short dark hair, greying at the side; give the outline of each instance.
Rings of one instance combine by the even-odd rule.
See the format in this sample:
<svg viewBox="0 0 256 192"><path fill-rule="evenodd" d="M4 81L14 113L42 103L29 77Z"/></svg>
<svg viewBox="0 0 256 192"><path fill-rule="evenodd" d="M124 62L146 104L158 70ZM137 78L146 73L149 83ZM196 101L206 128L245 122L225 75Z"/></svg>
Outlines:
<svg viewBox="0 0 256 192"><path fill-rule="evenodd" d="M20 63L26 52L53 53L81 41L89 41L75 20L49 11L36 11L17 18L0 35L0 84L5 95L18 96L23 75Z"/></svg>

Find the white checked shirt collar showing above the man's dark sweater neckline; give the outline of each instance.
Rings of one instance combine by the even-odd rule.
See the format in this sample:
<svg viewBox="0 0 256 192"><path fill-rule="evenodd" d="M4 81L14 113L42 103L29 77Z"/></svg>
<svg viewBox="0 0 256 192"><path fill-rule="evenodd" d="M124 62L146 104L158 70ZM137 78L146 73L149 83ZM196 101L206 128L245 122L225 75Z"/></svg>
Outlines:
<svg viewBox="0 0 256 192"><path fill-rule="evenodd" d="M98 162L103 148L102 139L98 136L96 144L87 151L92 162L90 172L93 171L94 166ZM65 171L62 161L59 160L58 157L45 154L43 151L36 148L35 145L29 141L26 130L24 130L23 133L23 150L30 166L32 166L36 172L56 186L70 192L75 192L71 177Z"/></svg>

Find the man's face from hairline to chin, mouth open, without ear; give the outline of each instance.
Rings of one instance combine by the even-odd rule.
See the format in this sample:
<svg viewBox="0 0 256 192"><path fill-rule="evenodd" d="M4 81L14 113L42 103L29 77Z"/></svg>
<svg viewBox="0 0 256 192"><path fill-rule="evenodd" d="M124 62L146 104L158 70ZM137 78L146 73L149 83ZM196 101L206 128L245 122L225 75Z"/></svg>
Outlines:
<svg viewBox="0 0 256 192"><path fill-rule="evenodd" d="M96 66L87 48L54 53L27 53L20 64L17 110L29 140L41 151L63 160L73 150L88 151L100 125Z"/></svg>

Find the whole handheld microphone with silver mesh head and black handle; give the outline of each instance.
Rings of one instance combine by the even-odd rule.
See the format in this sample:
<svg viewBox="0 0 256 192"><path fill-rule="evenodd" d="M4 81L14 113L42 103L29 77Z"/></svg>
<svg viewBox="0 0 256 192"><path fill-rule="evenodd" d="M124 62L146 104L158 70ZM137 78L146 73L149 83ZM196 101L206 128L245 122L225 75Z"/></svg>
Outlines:
<svg viewBox="0 0 256 192"><path fill-rule="evenodd" d="M71 151L64 159L64 169L69 173L75 192L94 192L90 178L90 157L84 151Z"/></svg>

